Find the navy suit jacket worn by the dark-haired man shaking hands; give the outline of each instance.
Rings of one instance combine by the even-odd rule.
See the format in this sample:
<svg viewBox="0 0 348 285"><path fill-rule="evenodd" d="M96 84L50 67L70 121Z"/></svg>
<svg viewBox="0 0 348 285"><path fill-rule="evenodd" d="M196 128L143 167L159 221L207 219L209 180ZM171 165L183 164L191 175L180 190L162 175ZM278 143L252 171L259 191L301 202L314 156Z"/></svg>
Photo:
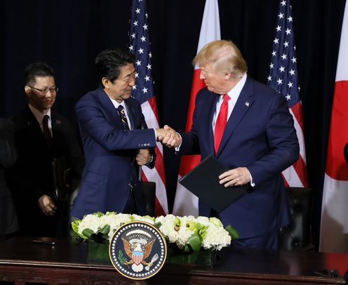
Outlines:
<svg viewBox="0 0 348 285"><path fill-rule="evenodd" d="M122 212L129 183L135 187L139 213L146 213L137 184L135 155L140 148L155 147L156 137L153 129L140 129L145 124L140 103L133 98L125 102L132 131L124 130L119 114L102 88L87 93L76 104L86 166L72 217L82 218L96 211Z"/></svg>

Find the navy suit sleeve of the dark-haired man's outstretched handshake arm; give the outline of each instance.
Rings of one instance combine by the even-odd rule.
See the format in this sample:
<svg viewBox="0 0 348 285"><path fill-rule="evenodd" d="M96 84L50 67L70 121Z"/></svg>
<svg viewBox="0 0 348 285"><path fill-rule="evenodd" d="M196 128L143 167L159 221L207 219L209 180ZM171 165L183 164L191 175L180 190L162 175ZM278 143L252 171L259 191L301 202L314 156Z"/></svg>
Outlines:
<svg viewBox="0 0 348 285"><path fill-rule="evenodd" d="M116 128L107 121L102 106L91 96L85 96L77 102L76 114L83 133L106 150L135 150L156 146L153 129L126 131Z"/></svg>

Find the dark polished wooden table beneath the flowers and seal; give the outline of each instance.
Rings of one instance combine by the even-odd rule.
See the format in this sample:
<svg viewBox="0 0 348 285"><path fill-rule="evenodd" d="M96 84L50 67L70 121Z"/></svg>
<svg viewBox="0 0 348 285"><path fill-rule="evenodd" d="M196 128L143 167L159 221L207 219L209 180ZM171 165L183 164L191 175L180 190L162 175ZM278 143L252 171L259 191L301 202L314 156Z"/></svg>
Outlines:
<svg viewBox="0 0 348 285"><path fill-rule="evenodd" d="M224 248L213 268L164 265L156 276L135 282L111 263L87 260L85 244L56 239L55 246L15 237L0 241L0 283L48 284L346 284L341 276L315 271L348 267L348 254L237 250Z"/></svg>

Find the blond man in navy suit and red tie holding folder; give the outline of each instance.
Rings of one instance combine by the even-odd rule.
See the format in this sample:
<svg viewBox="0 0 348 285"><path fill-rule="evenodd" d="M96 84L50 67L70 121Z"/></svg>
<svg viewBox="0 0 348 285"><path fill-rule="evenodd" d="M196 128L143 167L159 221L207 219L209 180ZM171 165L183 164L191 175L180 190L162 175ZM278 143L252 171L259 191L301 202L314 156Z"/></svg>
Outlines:
<svg viewBox="0 0 348 285"><path fill-rule="evenodd" d="M161 138L181 154L215 155L230 170L219 176L225 187L250 185L250 192L220 213L199 201L201 216L217 215L239 232L234 246L278 248L279 228L289 221L281 171L298 157L299 145L286 99L246 75L232 41L213 41L194 58L206 88L196 96L189 133ZM168 126L165 128L169 129Z"/></svg>

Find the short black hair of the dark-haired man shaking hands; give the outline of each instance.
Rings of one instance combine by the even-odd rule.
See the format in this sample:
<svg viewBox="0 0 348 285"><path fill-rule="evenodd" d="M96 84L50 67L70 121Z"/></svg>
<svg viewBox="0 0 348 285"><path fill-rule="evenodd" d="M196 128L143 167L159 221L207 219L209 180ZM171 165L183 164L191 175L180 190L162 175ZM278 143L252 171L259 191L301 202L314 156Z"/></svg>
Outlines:
<svg viewBox="0 0 348 285"><path fill-rule="evenodd" d="M114 82L119 77L120 67L133 63L135 56L121 48L107 49L95 58L95 71L102 86L102 78Z"/></svg>

